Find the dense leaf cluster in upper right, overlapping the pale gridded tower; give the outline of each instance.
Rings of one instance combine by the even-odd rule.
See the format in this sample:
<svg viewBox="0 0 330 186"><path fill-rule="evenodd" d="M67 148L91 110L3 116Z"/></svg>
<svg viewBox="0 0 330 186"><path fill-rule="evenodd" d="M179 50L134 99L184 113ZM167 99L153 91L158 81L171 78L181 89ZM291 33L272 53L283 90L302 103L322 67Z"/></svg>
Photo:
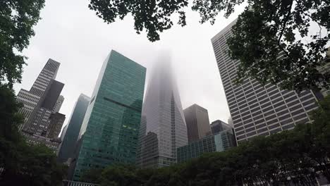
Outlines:
<svg viewBox="0 0 330 186"><path fill-rule="evenodd" d="M228 42L231 57L241 62L238 80L255 77L296 90L329 88L330 73L317 69L330 62L325 56L329 11L330 2L322 0L251 1Z"/></svg>

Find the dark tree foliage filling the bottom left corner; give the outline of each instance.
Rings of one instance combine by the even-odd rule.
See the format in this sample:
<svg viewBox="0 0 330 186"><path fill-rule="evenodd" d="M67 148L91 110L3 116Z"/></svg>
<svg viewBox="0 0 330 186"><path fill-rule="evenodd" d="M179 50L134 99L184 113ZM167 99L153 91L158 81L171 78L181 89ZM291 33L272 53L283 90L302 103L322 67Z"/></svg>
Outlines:
<svg viewBox="0 0 330 186"><path fill-rule="evenodd" d="M0 85L0 185L61 185L66 166L44 145L28 145L18 132L23 117L13 89Z"/></svg>

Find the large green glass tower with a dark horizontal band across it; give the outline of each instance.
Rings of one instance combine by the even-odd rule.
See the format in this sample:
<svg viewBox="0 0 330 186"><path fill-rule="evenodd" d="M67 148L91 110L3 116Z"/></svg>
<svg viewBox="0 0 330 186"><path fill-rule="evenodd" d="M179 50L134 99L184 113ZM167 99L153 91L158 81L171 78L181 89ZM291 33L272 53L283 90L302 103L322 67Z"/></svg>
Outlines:
<svg viewBox="0 0 330 186"><path fill-rule="evenodd" d="M111 51L87 108L74 180L90 168L135 163L146 68Z"/></svg>

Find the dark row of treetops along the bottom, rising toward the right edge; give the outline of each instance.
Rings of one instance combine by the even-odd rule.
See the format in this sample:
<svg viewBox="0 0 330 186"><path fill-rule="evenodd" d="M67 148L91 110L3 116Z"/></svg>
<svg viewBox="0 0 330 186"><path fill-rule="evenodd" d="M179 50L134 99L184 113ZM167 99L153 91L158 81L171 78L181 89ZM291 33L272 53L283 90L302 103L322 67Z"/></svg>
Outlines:
<svg viewBox="0 0 330 186"><path fill-rule="evenodd" d="M312 111L312 123L269 137L257 136L238 147L202 155L159 169L110 166L101 185L316 185L330 182L330 97Z"/></svg>

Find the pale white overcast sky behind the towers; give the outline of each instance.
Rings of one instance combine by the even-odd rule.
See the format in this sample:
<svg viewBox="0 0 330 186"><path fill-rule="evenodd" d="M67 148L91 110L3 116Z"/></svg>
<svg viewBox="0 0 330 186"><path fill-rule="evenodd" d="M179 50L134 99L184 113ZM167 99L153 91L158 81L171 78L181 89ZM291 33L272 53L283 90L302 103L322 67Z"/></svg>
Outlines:
<svg viewBox="0 0 330 186"><path fill-rule="evenodd" d="M160 41L152 43L144 33L135 33L133 17L107 25L87 8L88 3L88 0L46 1L42 20L35 26L35 37L24 52L28 65L22 83L15 85L16 94L21 88L30 89L48 58L59 61L56 80L65 84L60 112L66 115L66 125L80 93L92 94L111 49L145 66L147 78L159 51L166 50L171 51L183 109L198 104L209 111L210 122L217 119L227 122L230 114L211 38L237 18L242 6L228 19L218 16L214 25L200 25L198 13L188 11L187 26L175 25L161 33Z"/></svg>

